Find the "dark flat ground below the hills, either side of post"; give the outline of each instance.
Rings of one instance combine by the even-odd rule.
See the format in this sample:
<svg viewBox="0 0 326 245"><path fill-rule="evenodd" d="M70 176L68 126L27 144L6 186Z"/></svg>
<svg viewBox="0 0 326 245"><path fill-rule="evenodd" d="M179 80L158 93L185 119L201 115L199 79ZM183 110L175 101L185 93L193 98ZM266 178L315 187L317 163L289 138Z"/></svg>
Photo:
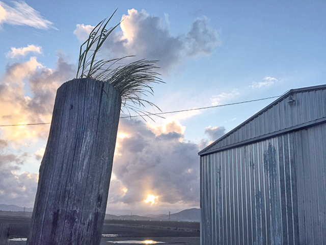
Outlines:
<svg viewBox="0 0 326 245"><path fill-rule="evenodd" d="M30 217L0 216L0 223L9 224L9 236L27 237ZM199 245L198 222L150 221L150 220L104 220L102 234L116 237L103 237L101 245L115 244L111 241L154 240L165 242L164 245ZM10 241L10 245L23 245L25 241ZM131 243L119 243L131 244ZM160 244L160 243L158 243Z"/></svg>

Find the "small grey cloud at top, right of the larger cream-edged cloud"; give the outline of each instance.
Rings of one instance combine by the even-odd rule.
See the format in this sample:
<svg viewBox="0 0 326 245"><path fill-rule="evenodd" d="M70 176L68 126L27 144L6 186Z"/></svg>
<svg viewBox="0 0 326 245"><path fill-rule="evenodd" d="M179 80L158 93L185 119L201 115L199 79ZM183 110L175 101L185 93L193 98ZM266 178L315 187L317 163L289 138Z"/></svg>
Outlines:
<svg viewBox="0 0 326 245"><path fill-rule="evenodd" d="M209 55L216 46L222 44L219 32L208 25L208 18L195 20L191 30L186 35L187 53L191 56Z"/></svg>

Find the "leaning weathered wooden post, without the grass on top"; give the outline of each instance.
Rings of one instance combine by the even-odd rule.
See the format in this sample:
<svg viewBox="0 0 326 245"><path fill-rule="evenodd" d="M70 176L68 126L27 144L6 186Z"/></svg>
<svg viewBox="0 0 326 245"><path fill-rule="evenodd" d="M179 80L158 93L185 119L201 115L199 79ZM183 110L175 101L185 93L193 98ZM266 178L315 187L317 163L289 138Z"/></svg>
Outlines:
<svg viewBox="0 0 326 245"><path fill-rule="evenodd" d="M108 83L58 89L26 244L100 243L120 107Z"/></svg>

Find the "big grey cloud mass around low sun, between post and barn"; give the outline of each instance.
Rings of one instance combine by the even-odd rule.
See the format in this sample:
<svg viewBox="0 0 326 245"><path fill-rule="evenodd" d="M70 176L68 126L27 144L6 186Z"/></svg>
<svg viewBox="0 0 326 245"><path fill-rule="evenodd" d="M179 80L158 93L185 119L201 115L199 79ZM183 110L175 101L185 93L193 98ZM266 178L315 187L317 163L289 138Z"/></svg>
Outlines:
<svg viewBox="0 0 326 245"><path fill-rule="evenodd" d="M159 196L158 207L198 206L199 150L197 144L180 140L184 128L178 122L153 129L143 121L122 119L119 132L125 137L117 140L121 155L114 159L111 206L120 203L146 209L148 194Z"/></svg>

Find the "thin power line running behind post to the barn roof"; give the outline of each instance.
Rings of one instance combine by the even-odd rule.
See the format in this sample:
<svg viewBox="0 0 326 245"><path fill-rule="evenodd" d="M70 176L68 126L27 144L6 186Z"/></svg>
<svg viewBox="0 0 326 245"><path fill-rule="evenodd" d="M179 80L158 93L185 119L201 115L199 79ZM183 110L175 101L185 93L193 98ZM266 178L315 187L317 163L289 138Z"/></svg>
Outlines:
<svg viewBox="0 0 326 245"><path fill-rule="evenodd" d="M282 95L273 96L273 97L266 97L266 98L262 98L262 99L251 100L251 101L241 101L241 102L235 102L235 103L230 103L230 104L217 105L217 106L207 106L207 107L200 107L200 108L193 108L193 109L185 109L185 110L178 110L178 111L167 111L167 112L158 112L158 113L148 113L148 114L135 115L135 116L121 116L120 118L130 118L130 117L138 117L138 116L155 116L155 115L163 115L163 114L170 114L170 113L176 113L176 112L203 110L203 109L209 109L209 108L215 108L215 107L232 106L232 105L238 105L238 104L250 103L250 102L255 102L255 101L263 101L263 100L268 100L268 99L274 99L274 98L277 98L277 97L280 97L280 96L282 96ZM11 125L0 125L0 127L9 127L9 126L30 126L30 125L44 125L44 124L51 124L51 122L40 122L40 123L38 123L38 124L11 124Z"/></svg>

